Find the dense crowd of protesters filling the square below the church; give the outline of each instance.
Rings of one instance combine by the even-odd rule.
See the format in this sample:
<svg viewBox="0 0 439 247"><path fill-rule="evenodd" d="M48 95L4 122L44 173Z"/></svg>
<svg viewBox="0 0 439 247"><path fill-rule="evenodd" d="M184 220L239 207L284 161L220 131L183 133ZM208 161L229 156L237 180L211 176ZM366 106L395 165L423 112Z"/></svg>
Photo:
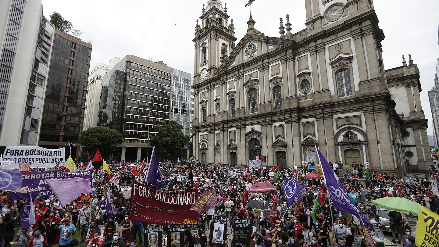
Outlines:
<svg viewBox="0 0 439 247"><path fill-rule="evenodd" d="M319 155L321 154L319 153ZM239 239L232 238L232 241L227 240L227 235L234 236L234 232L227 234L229 227L232 231L233 229L239 229L239 225L234 227L234 224L239 223L239 221L236 221L238 219L249 220L253 226L256 226L256 230L252 229L251 232L249 232L251 236L251 247L265 247L271 244L282 247L285 247L285 244L288 245L288 247L303 246L303 244L315 247L319 244L325 247L329 244L335 244L336 242L338 245L353 246L354 242L358 239L357 236L364 234L363 229L367 228L361 227L363 223L364 225L371 224L375 230L378 229L378 224L374 223L374 221L376 219L379 223L381 220L379 217L375 217L377 212L374 209L374 205L372 205L371 208L366 207L373 199L389 196L407 197L408 200L425 205L426 210L439 210L439 199L436 195L432 194L432 187L429 183L430 181L438 180L436 167L432 167L432 170L428 174L425 174L425 181L424 179L420 181L411 178L397 179L387 176L385 173L380 174L379 171L374 171L374 174L370 176L371 178L367 180L371 185L363 186L357 182L357 180L351 178L361 178L363 174L368 174L367 170L364 171L367 165L369 165L368 163L366 163L367 165L364 167L356 164L353 164L351 167L347 164L343 165L340 162L325 163L328 164L327 166L325 164L320 166L316 162L316 173L320 172L320 169L317 169L318 167L322 167L323 169L320 178L314 179L306 177L309 171L308 167L296 169L291 167L292 169L274 170L265 167L259 168L258 165L256 166L258 168L248 166L224 167L216 164L205 166L202 165L199 160L196 160L195 157L191 158L191 161L179 160L162 163L158 163L158 160L157 162L152 161L151 159L151 164L139 162L125 163L118 160L117 162L106 163L108 167L108 169L105 167L106 171L101 169L104 168L104 160L102 160L102 157L100 165L99 158L94 159L94 167L98 168L94 171L90 170L91 167L87 165L77 165L77 172L86 171L87 173L92 173L90 180L93 181L92 187L96 189L96 191L84 193L72 202L67 203L65 207L62 207L59 198L52 194L33 195L29 193L27 197L23 197L28 199L14 201L14 197L12 196L11 198L11 195L14 193L3 190L0 197L3 214L0 222L0 241L9 243L14 240L15 229L10 229L11 222L12 226L14 226L14 223L18 222L18 218L21 216L21 223L24 229L18 231L17 238L25 242L30 240L26 238L25 235L26 232L29 232L27 235L30 237L33 236L34 239L47 241L50 244L57 244L57 240L53 238L53 233L56 229L55 232L59 233L59 244L61 247L73 244L77 245L78 243L75 243L75 240L72 239L72 235L76 233L79 235L79 232L83 235L81 240L90 247L101 247L102 245L104 245L104 247L122 247L126 244L143 246L143 240L148 241L148 246L151 245L151 247L156 247L159 242L162 243L163 246L168 246L168 241L169 246L173 247L196 247L194 243L191 243L190 240L188 241L191 236L187 234L187 229L180 227L178 229L175 228L173 232L169 232L167 231L168 225L165 223L161 223L161 225L163 225L162 232L160 232L161 234L157 234L157 236L149 234L148 240L146 240L144 233L146 233L149 223L144 224L139 218L133 218L133 215L130 214L134 207L139 207L134 204L138 204L140 197L144 199L148 197L148 195L151 195L148 200L154 199L155 201L161 201L163 204L163 200L166 201L164 198L173 197L166 193L177 193L181 195L177 196L179 199L176 199L177 197L174 196L172 200L179 200L179 202L187 204L183 206L188 206L188 211L190 211L191 207L196 205L198 210L194 209L195 211L191 211L195 216L190 218L189 221L183 221L181 223L193 224L194 222L198 222L199 225L201 225L202 236L205 236L204 230L211 227L210 231L212 232L212 236L206 236L205 240L209 241L209 243L221 242L220 240L222 238L223 246L241 245L241 240ZM136 171L140 171L140 174L134 176L132 167L138 167L139 164L141 168L139 167ZM150 167L154 167L151 171L155 172L148 176L146 169ZM352 169L351 172L350 168L353 167L356 169ZM363 169L361 173L360 167ZM339 169L345 172L347 171L348 177L346 180L340 181L333 175L338 173L344 177L345 174L338 172ZM44 171L44 168L41 169L41 167L39 170L37 173L32 172L27 174L34 174L36 177L36 174L42 176L41 174L47 172ZM353 172L354 170L356 170L356 173ZM277 177L270 177L270 172L279 175ZM190 178L190 173L193 178ZM234 176L235 173L240 175ZM66 176L68 173L63 174L64 175L60 177L61 181L68 181L68 179L70 179ZM138 186L135 188L142 188L142 195L140 195L140 190L136 192L136 196L124 194L122 187L114 183L118 177L115 176L116 174L119 176L120 185L134 184ZM22 176L24 175L25 173L22 174ZM328 175L332 175L332 177L328 179ZM180 181L177 181L177 177L181 178ZM289 202L291 200L288 200L287 195L289 195L288 193L291 193L291 191L288 189L288 193L284 193L284 190L282 190L284 185L284 179L281 179L282 177L286 180L294 178L297 182L301 183L294 185L294 190L299 189L299 195L302 194L302 200L299 200L299 196L295 196L293 198L295 203ZM323 177L325 178L326 189L331 196L326 196L326 198L320 200L319 193L320 188L323 188L323 185L321 185ZM196 198L199 200L192 200L195 198L192 196L192 193L189 194L190 196L187 194L194 187L194 178L198 179L198 194ZM111 180L114 182L109 182ZM24 188L25 179L23 179L22 182L22 188ZM150 191L148 188L148 185L151 186L152 182L155 182L155 186L158 187L155 189L157 193L154 193L154 196L152 196L153 190L151 189ZM159 182L158 185L157 182ZM269 182L274 189L271 192L248 192L248 190L252 188L252 185L257 182ZM45 180L39 180L38 183L41 183L40 186L42 187L48 186ZM145 183L146 186L144 185ZM294 184L296 183L294 182ZM35 183L32 183L32 185L27 186L33 188L32 186L35 185ZM396 187L396 185L398 187ZM247 187L248 189L246 189ZM291 188L291 190L292 189L293 188ZM346 191L348 193L346 193ZM63 193L70 192L67 190ZM131 193L133 193L133 189ZM30 197L31 195L32 197ZM183 195L186 196L184 197ZM127 200L126 197L130 196L130 200ZM200 200L204 198L203 196L207 197ZM134 203L134 199L137 199L136 203ZM320 207L318 210L313 210L316 199L320 203ZM35 201L35 203L32 203L32 205L35 205L35 208L32 206L33 210L30 210L31 200ZM265 200L271 205L275 203L276 207L270 207L270 209L248 207L248 205L252 204L250 202L259 200ZM342 208L340 204L342 204ZM209 205L209 207L204 207L206 205ZM14 208L16 210L14 210ZM340 209L342 209L342 212L339 211ZM20 210L28 213L19 214L18 212ZM352 214L345 214L343 211L351 211L356 217L353 217ZM425 211L425 214L428 216L423 218L424 223L418 223L418 226L421 224L425 226L425 232L427 233L432 232L431 228L427 228L432 222L428 220L433 217L432 215L435 215L432 214L431 211ZM12 217L11 213L14 214ZM35 219L35 223L32 223L32 216L26 216L26 214L32 215L31 213L34 213L33 218ZM261 215L259 216L259 214ZM165 218L164 215L157 214L157 216L155 218L162 218L162 220ZM178 214L174 214L174 218L179 216ZM313 216L316 219L315 222ZM369 218L365 221L362 216ZM223 227L218 225L219 217L222 219L220 223ZM214 218L213 222L212 218ZM421 217L418 219L421 219ZM26 223L23 223L29 221L30 223L28 224L30 227L25 227ZM5 222L5 224L3 222ZM47 227L47 222L49 225L54 222L55 226L53 228ZM357 222L360 227L356 226ZM437 220L435 220L435 222L437 222ZM403 228L403 230L414 231L414 227L410 226L409 222L404 222L404 219L402 219L400 223L399 226ZM397 224L394 223L393 225ZM4 231L2 231L2 227L4 227ZM143 232L143 229L145 229L145 232ZM9 233L11 230L13 230L12 234ZM38 233L37 231L43 234L43 238L40 239L40 234L36 234ZM4 232L8 232L8 234L5 235ZM213 233L215 233L215 235ZM424 242L419 242L426 240L417 240L415 243L415 240L411 241L411 238L407 238L406 235L401 238L401 236L398 236L398 233L399 231L396 232L396 240L401 240L403 243L410 242L413 243L413 245L429 246L421 245ZM220 234L220 236L218 236L218 234ZM430 235L424 235L424 238L428 238L432 244L434 243L435 235L434 233ZM44 240L44 236L47 240ZM94 238L95 236L96 238ZM137 239L137 236L138 242L136 243L135 239ZM418 237L419 235L417 234L416 236ZM155 237L157 240L155 240ZM315 244L313 240L316 242ZM368 238L367 243L370 243L370 241L370 238ZM200 243L202 242L200 241ZM220 244L221 243L212 243L211 245L216 246ZM8 247L7 244L6 247Z"/></svg>

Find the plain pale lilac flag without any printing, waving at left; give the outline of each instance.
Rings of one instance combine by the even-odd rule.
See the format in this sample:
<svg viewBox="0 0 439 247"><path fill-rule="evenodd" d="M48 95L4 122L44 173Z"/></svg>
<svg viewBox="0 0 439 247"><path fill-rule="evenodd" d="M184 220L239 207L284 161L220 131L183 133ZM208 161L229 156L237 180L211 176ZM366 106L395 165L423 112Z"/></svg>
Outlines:
<svg viewBox="0 0 439 247"><path fill-rule="evenodd" d="M88 194L96 190L90 187L90 180L85 178L46 179L46 182L55 196L58 197L61 206L67 205L81 194Z"/></svg>

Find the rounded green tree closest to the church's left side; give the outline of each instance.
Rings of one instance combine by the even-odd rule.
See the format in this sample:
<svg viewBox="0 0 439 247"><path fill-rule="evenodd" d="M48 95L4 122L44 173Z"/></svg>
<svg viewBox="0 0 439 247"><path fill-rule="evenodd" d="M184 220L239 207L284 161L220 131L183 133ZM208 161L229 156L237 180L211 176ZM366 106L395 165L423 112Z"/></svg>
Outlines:
<svg viewBox="0 0 439 247"><path fill-rule="evenodd" d="M183 125L176 121L169 121L164 125L156 125L156 135L151 136L151 145L155 146L157 153L162 158L167 158L171 153L180 153L181 149L189 145L190 137L183 134Z"/></svg>

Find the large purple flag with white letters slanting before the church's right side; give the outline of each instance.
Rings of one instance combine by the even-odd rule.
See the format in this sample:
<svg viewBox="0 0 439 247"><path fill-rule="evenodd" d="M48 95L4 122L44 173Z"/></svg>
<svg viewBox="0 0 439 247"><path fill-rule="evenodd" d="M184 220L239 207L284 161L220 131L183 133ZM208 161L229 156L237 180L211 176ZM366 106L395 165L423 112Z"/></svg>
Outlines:
<svg viewBox="0 0 439 247"><path fill-rule="evenodd" d="M332 170L323 154L320 153L320 150L317 149L317 147L316 150L317 154L319 155L320 164L322 165L323 176L326 181L326 188L331 196L332 201L334 202L335 209L353 214L357 218L361 217L367 226L369 226L371 229L374 229L374 226L371 224L371 222L367 220L366 216L364 216L358 207L349 199L345 187L343 187L342 182L340 182L338 177L335 175L334 170Z"/></svg>

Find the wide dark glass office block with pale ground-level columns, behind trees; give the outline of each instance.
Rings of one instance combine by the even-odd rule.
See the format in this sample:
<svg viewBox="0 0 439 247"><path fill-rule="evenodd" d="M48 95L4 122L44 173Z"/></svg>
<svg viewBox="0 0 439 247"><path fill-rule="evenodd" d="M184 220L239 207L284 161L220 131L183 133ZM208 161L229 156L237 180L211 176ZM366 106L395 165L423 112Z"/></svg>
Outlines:
<svg viewBox="0 0 439 247"><path fill-rule="evenodd" d="M154 126L170 118L173 69L127 55L102 80L98 126L122 133L125 141L114 153L114 160L143 160L149 157L149 137Z"/></svg>

